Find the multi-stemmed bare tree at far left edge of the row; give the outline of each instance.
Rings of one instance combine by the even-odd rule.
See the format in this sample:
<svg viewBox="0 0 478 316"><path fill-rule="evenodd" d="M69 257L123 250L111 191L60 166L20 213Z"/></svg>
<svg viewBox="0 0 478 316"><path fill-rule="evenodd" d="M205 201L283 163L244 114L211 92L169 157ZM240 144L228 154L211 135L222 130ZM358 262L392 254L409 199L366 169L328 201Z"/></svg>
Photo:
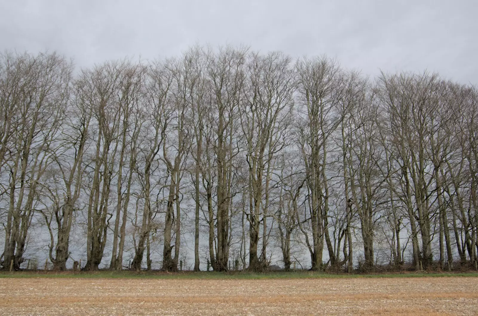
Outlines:
<svg viewBox="0 0 478 316"><path fill-rule="evenodd" d="M8 54L3 62L1 104L5 121L0 163L2 178L9 174L8 186L3 187L9 201L2 256L4 268L13 261L17 270L24 260L33 216L40 211L39 196L46 189L43 176L54 162L52 152L60 147L57 138L65 118L72 67L55 53Z"/></svg>

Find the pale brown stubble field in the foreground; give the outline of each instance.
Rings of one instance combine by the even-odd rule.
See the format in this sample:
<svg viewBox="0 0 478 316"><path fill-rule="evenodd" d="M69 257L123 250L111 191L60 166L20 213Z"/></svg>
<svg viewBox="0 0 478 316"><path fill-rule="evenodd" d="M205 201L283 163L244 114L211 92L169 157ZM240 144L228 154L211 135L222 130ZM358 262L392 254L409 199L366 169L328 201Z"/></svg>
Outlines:
<svg viewBox="0 0 478 316"><path fill-rule="evenodd" d="M478 315L478 278L1 278L0 315Z"/></svg>

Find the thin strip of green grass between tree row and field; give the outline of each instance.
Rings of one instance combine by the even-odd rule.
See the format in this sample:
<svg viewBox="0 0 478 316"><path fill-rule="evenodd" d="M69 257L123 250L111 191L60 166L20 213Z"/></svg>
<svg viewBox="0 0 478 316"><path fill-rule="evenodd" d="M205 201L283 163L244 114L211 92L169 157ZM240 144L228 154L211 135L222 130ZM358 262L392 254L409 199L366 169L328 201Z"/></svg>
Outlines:
<svg viewBox="0 0 478 316"><path fill-rule="evenodd" d="M144 278L144 279L302 279L302 278L396 278L396 277L478 277L478 273L393 273L393 274L326 274L323 272L0 272L0 278Z"/></svg>

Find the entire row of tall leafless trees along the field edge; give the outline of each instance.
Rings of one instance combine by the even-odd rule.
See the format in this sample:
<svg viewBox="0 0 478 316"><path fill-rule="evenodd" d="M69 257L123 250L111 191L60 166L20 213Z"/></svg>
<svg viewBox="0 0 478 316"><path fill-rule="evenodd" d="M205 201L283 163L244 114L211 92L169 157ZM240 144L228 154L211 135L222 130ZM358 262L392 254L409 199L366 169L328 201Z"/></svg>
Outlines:
<svg viewBox="0 0 478 316"><path fill-rule="evenodd" d="M176 271L191 237L196 271L289 270L301 247L312 270L475 266L477 115L475 86L326 56L195 46L75 73L4 53L0 264L46 234L64 270L75 232L84 270L162 249Z"/></svg>

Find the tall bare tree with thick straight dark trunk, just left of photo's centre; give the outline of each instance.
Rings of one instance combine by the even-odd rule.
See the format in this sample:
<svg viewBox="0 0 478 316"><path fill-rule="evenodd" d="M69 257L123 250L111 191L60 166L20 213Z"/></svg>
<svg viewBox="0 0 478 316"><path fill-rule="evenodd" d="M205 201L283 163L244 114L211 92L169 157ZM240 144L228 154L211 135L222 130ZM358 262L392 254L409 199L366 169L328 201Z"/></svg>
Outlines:
<svg viewBox="0 0 478 316"><path fill-rule="evenodd" d="M211 254L210 260L215 271L228 270L230 242L230 205L234 195L232 181L234 177L233 161L238 150L237 142L238 114L244 81L244 63L246 49L227 47L213 56L209 62L208 74L211 80L212 106L208 123L214 135L211 144L216 162L216 194L217 194L217 251L216 258ZM211 175L208 177L210 185ZM208 194L211 194L209 187ZM212 198L212 196L209 196ZM211 200L212 202L212 200ZM209 215L209 225L213 225L212 208ZM210 229L210 247L212 246Z"/></svg>

